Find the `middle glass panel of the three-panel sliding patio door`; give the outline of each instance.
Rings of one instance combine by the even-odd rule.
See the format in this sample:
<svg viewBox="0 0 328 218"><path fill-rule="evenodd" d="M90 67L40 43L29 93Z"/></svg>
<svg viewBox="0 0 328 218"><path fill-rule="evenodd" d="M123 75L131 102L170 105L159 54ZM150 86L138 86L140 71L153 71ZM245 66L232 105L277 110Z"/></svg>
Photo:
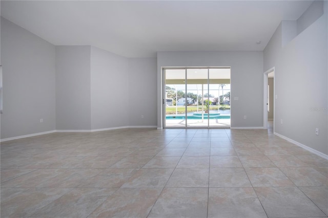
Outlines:
<svg viewBox="0 0 328 218"><path fill-rule="evenodd" d="M187 127L208 127L208 69L187 69Z"/></svg>

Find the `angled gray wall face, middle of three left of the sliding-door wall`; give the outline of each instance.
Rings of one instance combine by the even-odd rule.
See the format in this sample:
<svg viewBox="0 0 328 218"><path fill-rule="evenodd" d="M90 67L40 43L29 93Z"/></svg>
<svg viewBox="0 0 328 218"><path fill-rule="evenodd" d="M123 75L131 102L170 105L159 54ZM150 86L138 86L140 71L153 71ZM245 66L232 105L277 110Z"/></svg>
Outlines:
<svg viewBox="0 0 328 218"><path fill-rule="evenodd" d="M91 129L129 125L128 58L91 47Z"/></svg>

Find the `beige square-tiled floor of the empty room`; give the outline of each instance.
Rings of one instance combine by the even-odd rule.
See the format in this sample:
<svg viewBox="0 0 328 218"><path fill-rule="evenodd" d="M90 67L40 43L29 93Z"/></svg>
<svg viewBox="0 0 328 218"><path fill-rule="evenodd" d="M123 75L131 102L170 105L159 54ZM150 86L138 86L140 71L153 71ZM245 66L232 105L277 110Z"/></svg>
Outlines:
<svg viewBox="0 0 328 218"><path fill-rule="evenodd" d="M136 128L1 144L1 217L327 215L327 160L272 129Z"/></svg>

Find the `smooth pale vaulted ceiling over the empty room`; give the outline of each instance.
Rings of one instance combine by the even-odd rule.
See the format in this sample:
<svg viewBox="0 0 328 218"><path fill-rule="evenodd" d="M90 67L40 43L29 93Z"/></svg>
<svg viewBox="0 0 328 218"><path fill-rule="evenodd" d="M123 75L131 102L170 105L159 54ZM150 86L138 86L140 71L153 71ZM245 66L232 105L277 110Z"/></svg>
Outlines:
<svg viewBox="0 0 328 218"><path fill-rule="evenodd" d="M156 57L157 51L263 51L281 20L298 19L312 2L1 1L1 15L53 45Z"/></svg>

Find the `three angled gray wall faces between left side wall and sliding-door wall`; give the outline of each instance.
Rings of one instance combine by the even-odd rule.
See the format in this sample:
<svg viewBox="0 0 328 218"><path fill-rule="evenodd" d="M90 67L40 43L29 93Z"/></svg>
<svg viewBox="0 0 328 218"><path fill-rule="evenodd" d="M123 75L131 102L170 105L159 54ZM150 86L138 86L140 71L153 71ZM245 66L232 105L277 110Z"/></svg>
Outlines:
<svg viewBox="0 0 328 218"><path fill-rule="evenodd" d="M56 61L57 129L156 126L156 58L59 46Z"/></svg>

